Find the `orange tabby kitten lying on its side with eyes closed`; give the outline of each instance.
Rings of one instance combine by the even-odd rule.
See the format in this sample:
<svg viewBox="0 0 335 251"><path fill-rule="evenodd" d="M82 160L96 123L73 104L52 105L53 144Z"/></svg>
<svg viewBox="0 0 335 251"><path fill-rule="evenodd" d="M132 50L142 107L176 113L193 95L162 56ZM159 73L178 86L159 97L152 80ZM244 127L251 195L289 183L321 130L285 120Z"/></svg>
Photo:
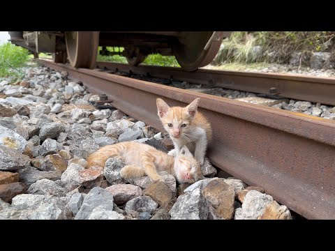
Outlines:
<svg viewBox="0 0 335 251"><path fill-rule="evenodd" d="M204 178L199 163L186 146L173 158L147 144L121 142L103 146L91 153L87 159L88 167L104 167L106 160L113 156L120 156L126 163L120 171L122 178L137 178L147 174L153 181L164 181L157 171L172 174L179 183L194 183Z"/></svg>

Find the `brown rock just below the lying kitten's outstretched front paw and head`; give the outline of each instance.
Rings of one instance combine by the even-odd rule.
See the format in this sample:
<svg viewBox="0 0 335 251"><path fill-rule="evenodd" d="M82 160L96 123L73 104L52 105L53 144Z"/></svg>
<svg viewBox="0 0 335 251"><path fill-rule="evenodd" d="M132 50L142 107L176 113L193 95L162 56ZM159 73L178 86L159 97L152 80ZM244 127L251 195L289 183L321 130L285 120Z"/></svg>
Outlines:
<svg viewBox="0 0 335 251"><path fill-rule="evenodd" d="M165 183L158 181L149 185L144 191L143 195L147 195L154 199L159 206L170 211L175 202L172 196L172 190Z"/></svg>

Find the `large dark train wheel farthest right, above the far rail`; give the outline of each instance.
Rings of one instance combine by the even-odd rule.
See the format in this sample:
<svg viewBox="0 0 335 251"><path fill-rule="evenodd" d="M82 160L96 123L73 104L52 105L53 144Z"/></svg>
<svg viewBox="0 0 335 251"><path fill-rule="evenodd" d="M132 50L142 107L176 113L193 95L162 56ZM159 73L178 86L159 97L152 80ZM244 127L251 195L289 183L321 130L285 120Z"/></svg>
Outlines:
<svg viewBox="0 0 335 251"><path fill-rule="evenodd" d="M172 50L181 68L193 71L211 63L220 49L223 35L223 31L190 31L179 38L172 44Z"/></svg>

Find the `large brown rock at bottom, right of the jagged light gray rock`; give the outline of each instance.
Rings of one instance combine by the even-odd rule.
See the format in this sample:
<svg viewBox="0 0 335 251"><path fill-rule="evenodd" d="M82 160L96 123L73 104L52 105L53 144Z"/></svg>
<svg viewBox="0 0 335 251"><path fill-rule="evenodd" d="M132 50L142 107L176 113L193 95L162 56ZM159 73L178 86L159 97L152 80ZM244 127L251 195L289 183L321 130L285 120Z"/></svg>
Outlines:
<svg viewBox="0 0 335 251"><path fill-rule="evenodd" d="M230 220L234 216L235 191L231 185L216 179L209 182L202 195L214 207L219 218Z"/></svg>

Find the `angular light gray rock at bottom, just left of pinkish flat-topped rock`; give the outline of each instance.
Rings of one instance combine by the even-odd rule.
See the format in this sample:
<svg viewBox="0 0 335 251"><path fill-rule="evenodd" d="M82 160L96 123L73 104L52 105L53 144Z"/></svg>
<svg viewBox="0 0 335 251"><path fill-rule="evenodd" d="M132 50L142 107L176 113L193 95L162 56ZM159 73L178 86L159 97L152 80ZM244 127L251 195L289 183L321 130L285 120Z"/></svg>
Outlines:
<svg viewBox="0 0 335 251"><path fill-rule="evenodd" d="M91 191L89 191L84 201L82 202L80 210L78 211L77 215L75 215L75 220L89 219L95 208L106 211L112 210L113 195L103 188L93 188Z"/></svg>

